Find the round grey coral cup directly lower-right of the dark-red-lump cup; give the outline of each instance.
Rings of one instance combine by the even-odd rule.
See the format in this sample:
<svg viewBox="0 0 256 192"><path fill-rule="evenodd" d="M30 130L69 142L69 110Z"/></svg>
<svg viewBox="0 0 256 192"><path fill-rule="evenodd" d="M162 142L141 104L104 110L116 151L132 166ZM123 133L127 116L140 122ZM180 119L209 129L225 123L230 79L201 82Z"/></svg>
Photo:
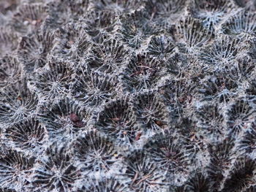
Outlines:
<svg viewBox="0 0 256 192"><path fill-rule="evenodd" d="M86 131L75 139L72 150L86 175L107 173L118 161L118 152L113 143L96 130Z"/></svg>

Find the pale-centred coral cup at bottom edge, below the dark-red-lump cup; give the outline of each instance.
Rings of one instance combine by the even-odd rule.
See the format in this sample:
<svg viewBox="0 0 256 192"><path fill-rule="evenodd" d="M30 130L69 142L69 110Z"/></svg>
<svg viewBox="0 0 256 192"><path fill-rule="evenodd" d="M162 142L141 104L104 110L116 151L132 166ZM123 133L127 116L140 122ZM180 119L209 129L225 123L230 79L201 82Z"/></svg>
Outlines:
<svg viewBox="0 0 256 192"><path fill-rule="evenodd" d="M37 191L75 191L80 172L74 166L64 146L50 145L33 170L33 184Z"/></svg>

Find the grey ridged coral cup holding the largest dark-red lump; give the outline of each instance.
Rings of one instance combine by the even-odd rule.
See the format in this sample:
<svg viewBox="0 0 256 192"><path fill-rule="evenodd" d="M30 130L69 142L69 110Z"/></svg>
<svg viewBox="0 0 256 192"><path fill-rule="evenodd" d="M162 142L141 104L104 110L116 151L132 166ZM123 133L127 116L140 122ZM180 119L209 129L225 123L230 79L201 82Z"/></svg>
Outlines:
<svg viewBox="0 0 256 192"><path fill-rule="evenodd" d="M72 139L74 134L88 125L91 115L78 102L69 99L56 99L45 104L40 110L39 121L45 125L50 140Z"/></svg>

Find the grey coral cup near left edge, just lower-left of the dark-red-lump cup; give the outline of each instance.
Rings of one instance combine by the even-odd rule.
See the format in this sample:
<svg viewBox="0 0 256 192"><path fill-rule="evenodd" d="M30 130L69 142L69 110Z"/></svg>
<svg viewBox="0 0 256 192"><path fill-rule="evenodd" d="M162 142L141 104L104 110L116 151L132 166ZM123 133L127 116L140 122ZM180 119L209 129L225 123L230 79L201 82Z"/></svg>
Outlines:
<svg viewBox="0 0 256 192"><path fill-rule="evenodd" d="M7 127L4 137L21 150L38 153L45 144L46 131L36 118L29 118Z"/></svg>

